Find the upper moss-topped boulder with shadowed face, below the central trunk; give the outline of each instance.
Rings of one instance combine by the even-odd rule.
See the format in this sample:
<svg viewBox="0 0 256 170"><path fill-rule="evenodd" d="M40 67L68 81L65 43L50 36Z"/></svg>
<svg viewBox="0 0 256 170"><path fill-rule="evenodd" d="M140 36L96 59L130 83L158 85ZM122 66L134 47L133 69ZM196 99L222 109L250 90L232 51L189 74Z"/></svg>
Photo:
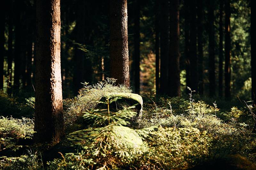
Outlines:
<svg viewBox="0 0 256 170"><path fill-rule="evenodd" d="M132 108L131 110L133 112L137 112L136 117L138 117L138 118L141 117L143 100L140 95L134 94L134 93L114 92L114 93L108 93L107 95L103 96L100 99L100 101L105 102L107 100L107 98L109 98L111 100L116 97L119 97L121 99L118 99L116 102L113 102L110 104L110 111L117 112L118 110L122 110L124 108L135 105L135 108ZM96 108L106 109L107 105L104 103L99 103Z"/></svg>

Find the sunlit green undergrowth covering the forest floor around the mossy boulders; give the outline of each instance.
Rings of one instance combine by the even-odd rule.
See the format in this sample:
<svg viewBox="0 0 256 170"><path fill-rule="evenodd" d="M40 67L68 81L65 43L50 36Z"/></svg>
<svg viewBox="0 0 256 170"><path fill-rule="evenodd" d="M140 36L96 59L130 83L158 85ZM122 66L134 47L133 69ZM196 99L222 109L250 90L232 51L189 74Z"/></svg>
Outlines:
<svg viewBox="0 0 256 170"><path fill-rule="evenodd" d="M109 92L130 92L113 82L85 84L76 98L64 100L68 135L49 149L58 156L46 163L42 158L47 153L32 145L20 156L0 157L0 169L207 169L221 162L255 169L253 107L219 108L221 101L194 100L191 91L188 99L160 97L156 105L144 102L140 121L131 126L134 106L117 112L93 109ZM19 138L33 137L30 119L2 117L0 125L3 149L15 148Z"/></svg>

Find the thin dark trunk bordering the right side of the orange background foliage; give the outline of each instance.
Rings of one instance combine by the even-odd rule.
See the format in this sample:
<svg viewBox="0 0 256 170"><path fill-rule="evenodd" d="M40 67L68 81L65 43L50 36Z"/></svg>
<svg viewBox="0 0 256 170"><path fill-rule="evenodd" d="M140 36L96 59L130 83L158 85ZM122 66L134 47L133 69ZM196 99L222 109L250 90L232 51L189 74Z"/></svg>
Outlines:
<svg viewBox="0 0 256 170"><path fill-rule="evenodd" d="M155 53L156 53L156 94L159 93L159 1L156 0L156 14L155 14Z"/></svg>

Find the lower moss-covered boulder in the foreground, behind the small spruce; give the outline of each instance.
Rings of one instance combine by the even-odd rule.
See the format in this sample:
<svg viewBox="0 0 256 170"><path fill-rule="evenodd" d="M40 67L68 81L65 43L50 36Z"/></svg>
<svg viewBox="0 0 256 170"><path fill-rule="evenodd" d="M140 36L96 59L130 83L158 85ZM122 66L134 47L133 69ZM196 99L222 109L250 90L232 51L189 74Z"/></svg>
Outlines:
<svg viewBox="0 0 256 170"><path fill-rule="evenodd" d="M107 130L107 136L105 135L104 137L100 136L99 133L106 131L106 128L90 128L70 133L59 144L44 154L44 160L51 161L55 158L60 158L60 153L63 155L81 151L90 153L98 147L97 143L101 138L108 139L105 142L108 143L108 154L112 156L115 156L120 150L127 153L135 153L141 152L146 148L141 137L134 129L124 126L110 126ZM100 158L100 155L96 157Z"/></svg>

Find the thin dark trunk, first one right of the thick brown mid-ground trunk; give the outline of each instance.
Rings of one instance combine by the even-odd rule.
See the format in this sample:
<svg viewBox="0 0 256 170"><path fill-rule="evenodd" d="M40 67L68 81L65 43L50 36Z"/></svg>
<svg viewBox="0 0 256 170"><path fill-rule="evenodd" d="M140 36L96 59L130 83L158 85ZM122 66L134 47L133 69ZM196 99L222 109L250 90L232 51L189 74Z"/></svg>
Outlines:
<svg viewBox="0 0 256 170"><path fill-rule="evenodd" d="M185 69L186 86L190 87L190 58L189 58L189 0L184 0L185 7ZM187 94L189 93L187 89Z"/></svg>

